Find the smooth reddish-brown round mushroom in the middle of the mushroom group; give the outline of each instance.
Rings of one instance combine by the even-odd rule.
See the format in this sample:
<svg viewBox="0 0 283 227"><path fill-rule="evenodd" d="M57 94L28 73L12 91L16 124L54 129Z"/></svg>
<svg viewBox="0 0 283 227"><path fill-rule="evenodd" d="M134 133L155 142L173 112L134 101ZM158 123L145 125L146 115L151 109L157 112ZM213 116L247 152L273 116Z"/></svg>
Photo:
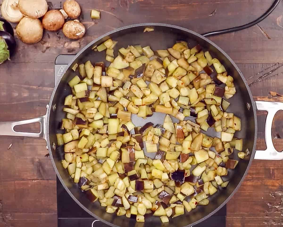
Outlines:
<svg viewBox="0 0 283 227"><path fill-rule="evenodd" d="M59 10L50 10L42 18L42 25L48 31L58 31L63 27L65 19Z"/></svg>

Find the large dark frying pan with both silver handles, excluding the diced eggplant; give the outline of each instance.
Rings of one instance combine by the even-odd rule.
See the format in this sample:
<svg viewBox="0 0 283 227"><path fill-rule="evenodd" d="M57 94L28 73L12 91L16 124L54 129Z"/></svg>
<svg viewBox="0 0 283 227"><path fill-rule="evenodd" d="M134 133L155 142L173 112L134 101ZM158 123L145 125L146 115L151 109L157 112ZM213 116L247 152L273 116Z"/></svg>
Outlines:
<svg viewBox="0 0 283 227"><path fill-rule="evenodd" d="M154 31L144 33L143 30L146 27L154 28ZM235 137L244 138L243 151L246 153L246 157L239 161L239 164L234 171L229 170L228 178L231 179L228 187L225 190L218 190L216 194L209 197L209 205L198 206L190 213L185 213L185 215L170 219L170 222L165 224L160 222L159 217L154 216L147 218L145 223L136 223L136 219L126 218L125 216L117 217L115 214L106 213L105 208L101 207L99 202L89 202L85 194L80 191L77 184L74 184L73 179L70 178L67 171L63 169L61 160L58 157L59 148L57 147L56 133L60 132L58 125L61 122L61 119L65 117L65 113L63 112L65 97L68 94L71 94L68 81L76 75L76 73L72 70L72 66L76 63L81 64L87 60L91 60L91 62L94 63L101 61L101 59L105 59L105 52L95 52L92 50L92 47L100 45L109 38L118 41L114 50L115 52L117 52L117 49L121 47L127 47L128 45L135 44L140 44L141 46L150 45L153 50L165 49L172 47L177 40L187 41L189 47L194 47L196 44L200 44L205 50L208 50L214 58L218 58L229 74L233 76L237 92L229 99L231 105L228 111L233 112L236 116L241 118L242 130L237 131L235 133ZM110 31L84 47L68 64L65 72L60 78L60 82L55 85L50 103L47 106L46 115L24 121L0 122L0 135L27 136L45 139L47 142L46 147L49 150L55 172L68 194L76 201L76 203L78 203L78 205L87 211L87 213L102 222L105 222L110 226L162 225L183 227L197 224L210 217L223 207L239 188L253 159L283 159L283 152L280 153L276 151L271 138L273 117L278 110L282 109L283 103L280 102L254 101L243 74L233 60L220 47L204 36L195 33L194 31L174 25L157 23L135 24ZM267 148L266 150L261 151L255 150L257 137L256 110L267 111L267 118L265 122L265 141ZM152 117L149 117L146 120L137 118L135 115L132 117L132 121L136 126L142 126L149 121L152 121L153 123L162 123L163 119L164 115L162 113L154 113ZM16 125L35 122L40 123L39 133L16 132L14 130ZM219 134L213 129L209 129L206 134L209 136L219 137ZM233 155L235 156L231 158L238 159L237 154Z"/></svg>

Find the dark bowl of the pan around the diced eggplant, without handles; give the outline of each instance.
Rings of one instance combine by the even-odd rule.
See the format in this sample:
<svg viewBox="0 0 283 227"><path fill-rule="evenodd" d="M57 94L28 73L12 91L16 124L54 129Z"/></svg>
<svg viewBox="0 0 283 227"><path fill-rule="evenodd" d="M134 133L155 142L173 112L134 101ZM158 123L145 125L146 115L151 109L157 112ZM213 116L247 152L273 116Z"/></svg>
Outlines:
<svg viewBox="0 0 283 227"><path fill-rule="evenodd" d="M143 32L144 28L150 26L154 28L152 32ZM172 47L176 41L184 40L188 42L189 48L194 47L196 44L200 44L204 50L208 50L212 57L218 58L220 62L225 66L229 75L234 78L234 84L236 87L236 94L230 98L228 101L231 103L227 112L232 112L236 116L241 118L242 130L235 133L235 137L243 138L243 151L247 148L250 150L250 155L245 159L239 161L239 164L234 171L229 170L227 178L223 179L224 181L230 179L230 183L226 189L218 190L216 194L209 197L209 205L206 206L197 206L196 209L192 210L190 213L185 211L185 215L181 215L176 218L170 218L169 223L162 223L160 217L152 216L151 218L146 218L145 223L138 223L136 219L126 218L125 216L117 217L116 214L108 214L105 212L105 207L101 207L100 203L97 201L91 203L85 196L83 192L80 191L77 184L74 184L73 179L68 175L68 171L63 169L61 161L58 158L57 151L52 149L52 144L56 140L56 133L62 133L62 130L59 130L58 125L61 122L61 119L66 116L66 113L63 112L65 96L71 94L71 89L68 85L68 81L72 79L78 72L72 70L72 66L76 63L82 64L87 60L90 60L92 63L105 61L105 51L98 52L93 51L92 47L95 45L101 44L103 41L106 41L108 38L118 41L114 54L117 56L118 49L121 47L127 47L128 45L141 45L150 46L152 50L158 49L167 49ZM106 63L106 66L109 65ZM247 103L250 104L250 110L247 109ZM243 75L235 65L231 62L231 59L225 54L219 47L211 43L209 40L203 38L202 36L194 33L190 30L180 28L177 26L165 25L165 24L140 24L134 26L127 26L123 29L118 29L113 31L112 34L108 33L103 38L100 38L98 41L93 41L85 49L83 49L77 56L74 58L67 68L67 71L61 78L60 83L55 87L55 90L52 94L50 101L50 106L56 104L56 110L51 111L49 114L48 129L49 129L49 149L51 150L51 158L55 168L55 171L61 180L63 186L66 188L67 192L74 198L74 200L82 206L89 214L94 217L102 220L103 222L111 226L191 226L197 224L198 222L209 217L220 209L232 196L243 177L246 174L246 171L253 159L254 156L254 146L256 138L256 115L255 107L252 101L252 96L249 92L249 89L244 82ZM185 118L192 120L193 118ZM163 123L164 114L154 113L152 117L147 118L146 120L138 118L137 116L132 115L133 123L136 126L142 126L146 122L153 122L154 124ZM175 119L176 121L176 119ZM203 131L202 131L203 132ZM213 128L210 128L207 132L203 132L209 136L218 136L220 133L216 133ZM251 152L252 151L252 152ZM146 152L145 152L146 155ZM231 157L233 156L233 157ZM237 152L234 152L230 156L231 159L239 160L237 157Z"/></svg>

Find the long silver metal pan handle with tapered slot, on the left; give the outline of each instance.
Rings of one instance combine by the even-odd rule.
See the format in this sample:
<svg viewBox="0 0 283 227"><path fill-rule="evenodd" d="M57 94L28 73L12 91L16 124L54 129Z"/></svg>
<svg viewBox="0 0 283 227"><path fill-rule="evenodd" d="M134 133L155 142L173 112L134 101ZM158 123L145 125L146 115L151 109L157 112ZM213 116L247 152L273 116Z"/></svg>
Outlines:
<svg viewBox="0 0 283 227"><path fill-rule="evenodd" d="M48 105L46 106L48 109ZM24 136L24 137L33 137L33 138L46 138L46 119L47 119L47 111L44 116L35 117L28 120L23 121L6 121L0 122L0 136ZM26 125L31 123L40 123L40 132L39 133L26 133L26 132L17 132L14 130L14 127L17 125Z"/></svg>

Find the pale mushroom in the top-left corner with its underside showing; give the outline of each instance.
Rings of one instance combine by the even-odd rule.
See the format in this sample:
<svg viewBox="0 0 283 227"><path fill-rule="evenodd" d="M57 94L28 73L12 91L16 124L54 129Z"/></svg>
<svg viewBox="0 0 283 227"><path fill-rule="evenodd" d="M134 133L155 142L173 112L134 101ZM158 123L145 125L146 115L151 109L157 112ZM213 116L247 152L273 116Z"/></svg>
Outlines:
<svg viewBox="0 0 283 227"><path fill-rule="evenodd" d="M18 0L4 0L1 5L1 13L7 21L12 23L18 23L23 18L18 8Z"/></svg>

